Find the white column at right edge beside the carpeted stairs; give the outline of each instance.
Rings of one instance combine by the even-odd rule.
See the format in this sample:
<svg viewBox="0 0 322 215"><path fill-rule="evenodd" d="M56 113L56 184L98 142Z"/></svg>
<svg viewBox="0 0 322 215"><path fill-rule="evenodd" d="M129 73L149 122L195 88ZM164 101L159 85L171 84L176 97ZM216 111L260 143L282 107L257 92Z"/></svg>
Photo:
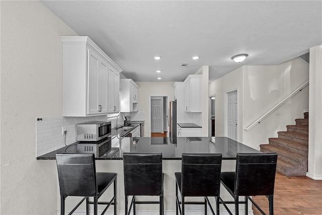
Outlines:
<svg viewBox="0 0 322 215"><path fill-rule="evenodd" d="M310 48L307 177L322 180L322 45Z"/></svg>

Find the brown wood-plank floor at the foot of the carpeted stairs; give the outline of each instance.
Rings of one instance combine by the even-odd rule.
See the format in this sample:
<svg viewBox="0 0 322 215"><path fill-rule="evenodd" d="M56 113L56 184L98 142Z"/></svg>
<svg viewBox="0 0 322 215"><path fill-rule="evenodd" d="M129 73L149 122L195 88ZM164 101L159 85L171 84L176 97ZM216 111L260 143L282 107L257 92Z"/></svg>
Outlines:
<svg viewBox="0 0 322 215"><path fill-rule="evenodd" d="M269 214L268 199L254 196L255 202ZM254 215L262 214L253 206ZM287 177L276 173L274 214L322 214L322 180L305 176Z"/></svg>

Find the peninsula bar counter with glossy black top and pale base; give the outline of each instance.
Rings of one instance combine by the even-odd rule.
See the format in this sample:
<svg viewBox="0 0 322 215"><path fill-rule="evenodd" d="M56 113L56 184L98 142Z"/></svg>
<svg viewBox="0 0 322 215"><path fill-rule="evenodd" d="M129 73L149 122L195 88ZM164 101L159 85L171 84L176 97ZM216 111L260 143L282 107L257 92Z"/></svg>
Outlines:
<svg viewBox="0 0 322 215"><path fill-rule="evenodd" d="M98 149L98 151L97 151ZM92 152L94 151L94 152ZM107 138L100 142L79 144L75 143L67 147L58 149L54 152L37 158L38 162L46 162L51 167L56 165L56 153L94 153L96 156L97 172L117 173L117 210L118 214L124 214L124 173L123 158L124 152L130 153L162 153L163 173L164 173L164 206L165 214L175 214L176 192L175 192L175 172L181 171L182 153L220 153L222 154L221 171L234 171L237 153L258 153L240 142L228 137L124 137ZM57 179L58 180L58 179ZM59 193L59 189L57 190ZM230 194L222 187L220 195L224 200L232 200ZM75 198L75 199L74 199ZM108 200L109 194L101 200ZM156 196L138 196L139 200L157 200ZM198 197L192 198L197 200ZM200 200L200 199L199 199ZM214 198L210 199L214 205ZM70 197L66 201L66 211L70 211L78 201L76 197ZM59 211L59 203L57 211ZM99 205L99 211L102 210ZM186 205L187 214L204 214L203 205ZM234 210L233 205L228 207ZM136 206L137 214L158 214L158 205L139 204ZM77 212L85 214L86 207L82 204ZM240 205L239 212L244 214L244 207ZM109 211L111 212L111 211ZM210 211L208 211L210 212ZM227 214L226 210L220 205L220 213ZM110 214L110 213L108 213ZM210 214L210 213L209 213ZM251 203L249 204L249 214L253 214Z"/></svg>

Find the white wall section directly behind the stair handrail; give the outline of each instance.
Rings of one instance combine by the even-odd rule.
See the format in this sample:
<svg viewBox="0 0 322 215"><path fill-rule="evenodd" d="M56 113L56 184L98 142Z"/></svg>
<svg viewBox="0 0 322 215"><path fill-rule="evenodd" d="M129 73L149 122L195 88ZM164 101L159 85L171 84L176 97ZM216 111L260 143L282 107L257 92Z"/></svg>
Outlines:
<svg viewBox="0 0 322 215"><path fill-rule="evenodd" d="M268 144L268 138L277 137L278 131L286 131L286 125L295 125L295 119L304 118L303 110L308 109L308 86L250 130L244 128L308 80L308 63L296 57L278 65L243 66L243 69L243 141L260 150L259 145Z"/></svg>

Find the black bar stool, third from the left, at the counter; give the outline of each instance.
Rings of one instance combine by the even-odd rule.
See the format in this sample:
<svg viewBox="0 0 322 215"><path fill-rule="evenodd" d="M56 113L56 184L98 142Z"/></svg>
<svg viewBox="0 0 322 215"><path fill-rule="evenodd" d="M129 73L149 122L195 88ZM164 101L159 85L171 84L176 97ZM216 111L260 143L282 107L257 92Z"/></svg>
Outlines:
<svg viewBox="0 0 322 215"><path fill-rule="evenodd" d="M221 154L182 154L182 172L176 172L176 214L185 214L185 204L204 204L207 214L207 203L212 214L215 214L208 196L216 199L216 214L219 214L219 191ZM178 188L181 193L180 202ZM204 202L185 202L186 196L203 196ZM180 204L182 203L182 209Z"/></svg>

